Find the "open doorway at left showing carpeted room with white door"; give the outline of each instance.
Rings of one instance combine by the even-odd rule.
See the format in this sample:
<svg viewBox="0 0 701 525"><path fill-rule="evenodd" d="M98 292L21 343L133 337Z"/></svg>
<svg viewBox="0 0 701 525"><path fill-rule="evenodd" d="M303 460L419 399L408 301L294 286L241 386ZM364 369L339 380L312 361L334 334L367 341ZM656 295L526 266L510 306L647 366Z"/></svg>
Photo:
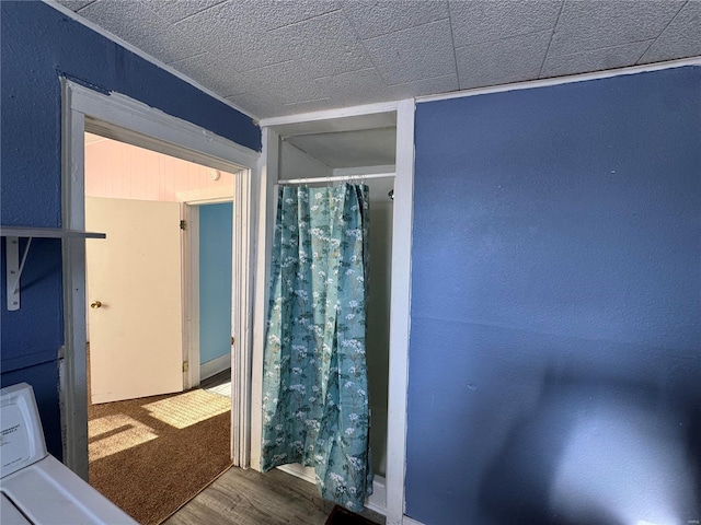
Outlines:
<svg viewBox="0 0 701 525"><path fill-rule="evenodd" d="M231 465L233 174L84 151L89 481L159 523Z"/></svg>

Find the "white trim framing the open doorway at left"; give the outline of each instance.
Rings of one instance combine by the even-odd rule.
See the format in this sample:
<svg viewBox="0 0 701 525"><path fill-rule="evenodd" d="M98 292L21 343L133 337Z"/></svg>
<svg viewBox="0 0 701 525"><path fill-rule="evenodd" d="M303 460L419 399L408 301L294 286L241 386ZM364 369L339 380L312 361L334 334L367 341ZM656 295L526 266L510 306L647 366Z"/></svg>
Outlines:
<svg viewBox="0 0 701 525"><path fill-rule="evenodd" d="M199 126L170 116L159 109L134 101L118 93L97 93L68 80L61 80L61 223L62 228L82 230L84 228L84 139L85 126L91 131L123 142L136 143L142 148L159 151L172 156L207 165L216 170L238 170L238 186L250 185L256 177L260 154L253 150L221 138ZM251 210L250 191L234 190L234 209ZM233 310L239 315L252 317L250 300L253 260L251 221L234 221L234 244L244 252L234 253L240 260L234 261L232 280L240 290ZM88 477L88 398L85 377L85 248L81 241L64 242L64 324L65 345L59 362L59 390L61 404L61 423L64 459L73 471ZM245 348L250 341L250 329L245 323L239 323L234 331L243 357L250 355ZM250 366L250 359L234 360L232 371L245 382L250 370L237 368ZM248 385L241 388L250 389ZM248 400L248 396L246 396ZM250 405L245 400L232 397L232 429L245 433L250 424ZM241 447L243 445L243 447ZM239 448L234 448L239 446ZM234 464L245 466L249 451L245 440L232 435L232 459Z"/></svg>

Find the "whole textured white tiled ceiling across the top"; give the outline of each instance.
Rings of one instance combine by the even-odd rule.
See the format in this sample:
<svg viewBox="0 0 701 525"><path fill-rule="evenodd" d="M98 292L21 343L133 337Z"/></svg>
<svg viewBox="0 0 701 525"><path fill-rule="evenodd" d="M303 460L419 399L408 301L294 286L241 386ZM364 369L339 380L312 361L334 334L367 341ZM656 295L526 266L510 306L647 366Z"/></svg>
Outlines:
<svg viewBox="0 0 701 525"><path fill-rule="evenodd" d="M701 55L701 0L59 0L256 118Z"/></svg>

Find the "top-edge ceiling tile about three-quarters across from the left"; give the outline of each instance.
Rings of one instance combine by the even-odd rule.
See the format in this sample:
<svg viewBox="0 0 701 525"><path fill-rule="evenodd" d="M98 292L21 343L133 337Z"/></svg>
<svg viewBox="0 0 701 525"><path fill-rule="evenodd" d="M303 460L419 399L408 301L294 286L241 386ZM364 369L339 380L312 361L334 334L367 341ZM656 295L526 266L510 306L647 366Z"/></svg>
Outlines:
<svg viewBox="0 0 701 525"><path fill-rule="evenodd" d="M562 0L451 1L456 47L552 30Z"/></svg>

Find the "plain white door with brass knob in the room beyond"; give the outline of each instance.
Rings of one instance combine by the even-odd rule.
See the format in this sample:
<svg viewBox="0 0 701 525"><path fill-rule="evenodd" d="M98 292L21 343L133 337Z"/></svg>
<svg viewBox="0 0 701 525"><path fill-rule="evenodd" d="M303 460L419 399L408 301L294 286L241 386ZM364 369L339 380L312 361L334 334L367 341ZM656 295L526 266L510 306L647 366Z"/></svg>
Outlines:
<svg viewBox="0 0 701 525"><path fill-rule="evenodd" d="M92 402L183 389L180 203L85 199Z"/></svg>

